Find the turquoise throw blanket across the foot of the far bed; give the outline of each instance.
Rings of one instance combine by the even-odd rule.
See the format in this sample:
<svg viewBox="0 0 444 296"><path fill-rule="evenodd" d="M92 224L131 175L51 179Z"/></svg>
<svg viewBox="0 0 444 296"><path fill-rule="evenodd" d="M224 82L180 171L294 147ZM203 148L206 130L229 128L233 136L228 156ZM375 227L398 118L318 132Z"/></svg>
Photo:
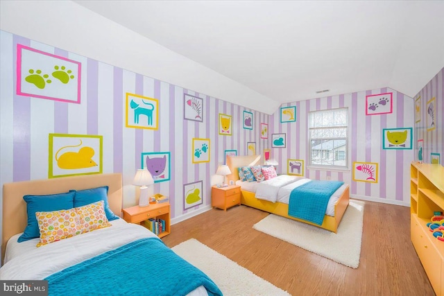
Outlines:
<svg viewBox="0 0 444 296"><path fill-rule="evenodd" d="M344 182L311 180L290 193L289 216L322 225L330 196Z"/></svg>

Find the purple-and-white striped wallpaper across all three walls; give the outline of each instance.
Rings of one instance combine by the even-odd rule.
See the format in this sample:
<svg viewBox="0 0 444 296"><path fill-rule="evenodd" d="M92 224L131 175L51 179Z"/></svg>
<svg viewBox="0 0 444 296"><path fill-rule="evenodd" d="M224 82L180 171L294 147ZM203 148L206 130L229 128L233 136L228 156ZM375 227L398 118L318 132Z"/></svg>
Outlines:
<svg viewBox="0 0 444 296"><path fill-rule="evenodd" d="M0 38L1 184L48 177L49 133L99 134L103 136L103 173L117 172L123 175L123 207L135 204L135 186L131 182L135 171L140 168L141 153L171 153L171 180L156 183L153 191L170 197L171 217L180 220L181 217L210 207L210 186L221 181L219 176L215 176L215 172L223 163L224 150L237 150L238 155L246 155L246 142L253 141L257 143L257 153L262 153L264 148L271 148L272 133L286 133L287 148L272 148L272 157L280 163L278 170L287 173L287 159L305 159L307 166L308 112L348 107L350 167L352 162L377 162L379 182L373 184L352 181L350 170L329 171L306 167L305 176L318 180L343 180L350 184L350 193L355 198L409 205L409 164L415 152L382 149L382 129L415 126L414 147L416 133L420 132L418 126L413 125L413 99L393 89L372 89L287 103L282 107L296 106L296 123L280 123L280 110L268 116L4 31L0 31ZM80 105L17 96L17 44L81 62ZM125 127L126 92L159 100L158 130ZM366 95L385 92L393 92L393 113L366 116ZM420 95L429 96L434 92L441 94L437 95L436 101L442 110L443 71L422 89ZM183 119L183 94L203 98L203 123ZM253 130L242 128L244 110L253 112ZM219 135L219 113L232 116L231 137ZM443 116L438 116L442 127ZM260 123L268 123L268 140L260 139ZM442 134L441 128L431 133L431 137L424 137L430 143L427 144L428 147L441 147L441 162ZM210 139L210 162L191 163L192 138ZM203 180L203 204L184 210L182 185L199 180Z"/></svg>

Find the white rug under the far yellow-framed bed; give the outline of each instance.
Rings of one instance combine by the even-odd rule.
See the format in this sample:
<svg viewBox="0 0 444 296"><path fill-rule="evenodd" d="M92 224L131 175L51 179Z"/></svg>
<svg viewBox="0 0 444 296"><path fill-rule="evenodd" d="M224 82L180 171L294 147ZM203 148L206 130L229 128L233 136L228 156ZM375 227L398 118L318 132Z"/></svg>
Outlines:
<svg viewBox="0 0 444 296"><path fill-rule="evenodd" d="M358 268L363 220L364 202L350 200L337 234L273 214L260 220L253 228L343 265Z"/></svg>

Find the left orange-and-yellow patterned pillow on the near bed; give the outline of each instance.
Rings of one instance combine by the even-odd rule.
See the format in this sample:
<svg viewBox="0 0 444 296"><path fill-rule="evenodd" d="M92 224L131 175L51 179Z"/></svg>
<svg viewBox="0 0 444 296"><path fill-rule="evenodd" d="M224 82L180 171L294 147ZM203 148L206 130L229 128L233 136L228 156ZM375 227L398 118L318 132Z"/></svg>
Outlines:
<svg viewBox="0 0 444 296"><path fill-rule="evenodd" d="M82 233L76 209L37 211L35 218L40 229L40 242L37 247Z"/></svg>

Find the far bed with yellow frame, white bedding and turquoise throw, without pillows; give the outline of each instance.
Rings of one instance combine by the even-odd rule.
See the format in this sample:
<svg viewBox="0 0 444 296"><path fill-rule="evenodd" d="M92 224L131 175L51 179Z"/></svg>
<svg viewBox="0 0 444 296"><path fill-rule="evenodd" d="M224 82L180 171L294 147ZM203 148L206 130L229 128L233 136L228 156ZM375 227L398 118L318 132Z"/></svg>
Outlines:
<svg viewBox="0 0 444 296"><path fill-rule="evenodd" d="M350 190L343 182L279 175L262 182L239 180L238 168L262 164L259 155L227 157L228 180L241 186L241 204L337 232L348 207ZM293 195L293 200L291 200Z"/></svg>

